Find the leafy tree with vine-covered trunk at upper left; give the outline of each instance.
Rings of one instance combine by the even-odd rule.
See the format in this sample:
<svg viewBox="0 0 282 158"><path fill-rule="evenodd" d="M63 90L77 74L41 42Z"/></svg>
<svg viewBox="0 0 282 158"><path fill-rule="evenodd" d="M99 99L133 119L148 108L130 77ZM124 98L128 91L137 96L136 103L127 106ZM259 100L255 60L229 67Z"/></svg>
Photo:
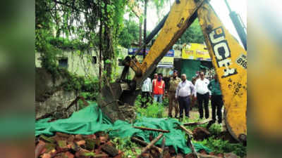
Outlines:
<svg viewBox="0 0 282 158"><path fill-rule="evenodd" d="M103 60L99 58L99 62L100 65L104 62L104 76L111 79L127 4L128 0L36 0L35 49L42 53L44 65L49 68L56 66L54 57L57 51L50 39L82 41L86 49L94 48L100 57L104 57Z"/></svg>

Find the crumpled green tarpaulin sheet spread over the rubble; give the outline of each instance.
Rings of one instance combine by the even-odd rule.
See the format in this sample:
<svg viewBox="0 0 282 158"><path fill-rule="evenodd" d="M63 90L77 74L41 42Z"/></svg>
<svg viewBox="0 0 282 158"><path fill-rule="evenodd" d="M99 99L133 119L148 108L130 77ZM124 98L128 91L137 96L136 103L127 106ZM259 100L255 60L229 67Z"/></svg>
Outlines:
<svg viewBox="0 0 282 158"><path fill-rule="evenodd" d="M111 137L131 137L138 136L143 138L149 143L149 136L157 137L159 132L156 131L142 131L135 129L133 126L145 126L152 129L164 129L170 133L164 133L166 137L166 146L172 145L176 152L179 150L185 154L191 152L190 148L186 145L185 133L180 129L176 129L179 121L176 119L156 119L142 117L137 120L135 124L128 124L126 121L118 120L111 124L109 119L106 119L104 114L98 108L96 103L93 103L84 109L73 112L68 119L59 119L56 121L48 122L49 119L41 119L35 123L35 136L41 134L52 136L54 132L59 131L70 134L83 134L90 135L97 131L106 131ZM162 139L161 139L162 140ZM159 140L156 145L161 145ZM209 148L195 143L196 150L206 150L211 152Z"/></svg>

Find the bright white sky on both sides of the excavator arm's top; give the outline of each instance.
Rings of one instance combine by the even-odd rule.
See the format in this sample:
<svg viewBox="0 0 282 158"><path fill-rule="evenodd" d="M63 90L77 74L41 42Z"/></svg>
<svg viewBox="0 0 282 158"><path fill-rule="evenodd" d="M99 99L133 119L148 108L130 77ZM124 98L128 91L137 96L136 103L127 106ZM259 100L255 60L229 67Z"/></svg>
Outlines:
<svg viewBox="0 0 282 158"><path fill-rule="evenodd" d="M173 4L175 0L171 0L171 4ZM223 25L228 29L228 31L233 34L233 36L240 41L240 38L238 37L238 34L236 32L235 27L233 26L233 22L231 21L231 18L229 17L229 11L225 4L224 0L211 0L209 4L212 5L214 8L214 11L216 11L216 14L219 16L221 22L223 22ZM228 0L228 4L231 7L232 11L235 11L240 15L240 17L243 20L244 25L247 27L247 0ZM152 1L149 2L147 8L147 29L152 31L154 27L157 26L158 23L158 16L157 16L157 9L154 8ZM161 9L161 17L164 17L166 13L170 10L169 3L164 4L164 7Z"/></svg>

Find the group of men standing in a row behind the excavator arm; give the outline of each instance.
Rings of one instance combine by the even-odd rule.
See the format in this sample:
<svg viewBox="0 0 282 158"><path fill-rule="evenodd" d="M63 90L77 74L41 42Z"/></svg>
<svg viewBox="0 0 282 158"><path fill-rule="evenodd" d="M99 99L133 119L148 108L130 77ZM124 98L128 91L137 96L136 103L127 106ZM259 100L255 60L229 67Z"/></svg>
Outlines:
<svg viewBox="0 0 282 158"><path fill-rule="evenodd" d="M168 117L172 117L173 107L175 109L175 117L183 118L183 113L185 112L185 117L190 117L190 105L191 100L197 100L198 109L200 113L200 119L205 117L209 118L209 98L211 98L212 103L212 119L216 121L216 115L218 117L218 122L221 124L222 121L222 95L221 89L219 87L219 81L214 75L214 79L209 81L204 77L204 72L200 72L200 78L195 81L195 84L192 84L191 81L186 79L186 74L181 75L181 79L178 77L178 71L173 71L173 77L169 80L168 86ZM165 93L165 83L162 79L161 74L154 74L154 79L152 80L149 77L144 81L142 86L142 98L150 96L152 93L152 97L155 102L161 103L164 100ZM212 97L210 97L212 96ZM178 108L179 104L179 108ZM204 109L203 109L204 104ZM144 102L142 103L144 105ZM179 117L178 117L179 113Z"/></svg>

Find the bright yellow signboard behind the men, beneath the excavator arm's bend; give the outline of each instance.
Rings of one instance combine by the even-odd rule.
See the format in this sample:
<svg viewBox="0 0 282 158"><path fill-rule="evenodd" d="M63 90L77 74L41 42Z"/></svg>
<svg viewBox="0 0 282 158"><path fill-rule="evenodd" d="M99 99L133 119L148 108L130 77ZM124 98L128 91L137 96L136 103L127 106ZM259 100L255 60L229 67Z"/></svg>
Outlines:
<svg viewBox="0 0 282 158"><path fill-rule="evenodd" d="M183 59L192 59L192 60L211 60L209 52L204 44L189 44L185 45L182 49L182 58Z"/></svg>

